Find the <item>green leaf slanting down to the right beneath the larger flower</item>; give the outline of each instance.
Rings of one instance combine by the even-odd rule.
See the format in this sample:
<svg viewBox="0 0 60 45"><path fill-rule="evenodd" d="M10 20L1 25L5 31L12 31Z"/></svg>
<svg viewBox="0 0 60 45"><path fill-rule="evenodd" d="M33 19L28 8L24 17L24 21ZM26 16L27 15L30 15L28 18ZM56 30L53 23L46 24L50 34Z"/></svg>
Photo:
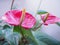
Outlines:
<svg viewBox="0 0 60 45"><path fill-rule="evenodd" d="M22 31L23 31L24 36L25 36L25 37L28 39L28 41L30 42L30 44L31 44L31 42L32 42L32 44L38 45L37 40L36 40L35 37L33 36L33 33L32 33L31 30L26 30L26 29L22 28Z"/></svg>

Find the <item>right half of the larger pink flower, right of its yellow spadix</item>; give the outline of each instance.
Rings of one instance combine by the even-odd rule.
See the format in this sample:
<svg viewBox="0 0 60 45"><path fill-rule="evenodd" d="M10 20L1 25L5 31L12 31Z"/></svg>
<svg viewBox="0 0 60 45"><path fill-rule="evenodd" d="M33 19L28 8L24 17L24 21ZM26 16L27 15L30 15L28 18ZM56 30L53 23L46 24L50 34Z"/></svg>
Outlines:
<svg viewBox="0 0 60 45"><path fill-rule="evenodd" d="M26 29L29 29L32 28L35 25L35 23L36 19L31 14L26 13L25 19L22 22L21 26Z"/></svg>

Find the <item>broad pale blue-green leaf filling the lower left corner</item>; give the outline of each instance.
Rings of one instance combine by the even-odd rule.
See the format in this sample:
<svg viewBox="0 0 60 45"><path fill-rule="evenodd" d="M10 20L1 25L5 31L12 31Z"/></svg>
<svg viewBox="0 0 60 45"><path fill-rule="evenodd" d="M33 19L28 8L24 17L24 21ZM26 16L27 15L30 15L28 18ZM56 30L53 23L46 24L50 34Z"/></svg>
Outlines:
<svg viewBox="0 0 60 45"><path fill-rule="evenodd" d="M20 40L20 34L17 32L12 32L12 30L5 29L0 30L0 39L5 39L6 41L0 41L1 45L18 45L18 42Z"/></svg>

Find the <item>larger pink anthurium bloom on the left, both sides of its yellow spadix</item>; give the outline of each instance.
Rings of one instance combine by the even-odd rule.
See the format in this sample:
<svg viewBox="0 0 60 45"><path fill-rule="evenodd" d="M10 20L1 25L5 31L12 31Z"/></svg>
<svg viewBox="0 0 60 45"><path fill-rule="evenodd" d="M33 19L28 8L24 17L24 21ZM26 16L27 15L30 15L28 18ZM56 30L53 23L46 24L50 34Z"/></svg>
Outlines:
<svg viewBox="0 0 60 45"><path fill-rule="evenodd" d="M19 10L10 10L2 16L5 22L11 25L20 25L20 19L22 16L22 11ZM28 12L25 13L25 18L21 23L21 26L24 28L32 28L36 23L36 19Z"/></svg>

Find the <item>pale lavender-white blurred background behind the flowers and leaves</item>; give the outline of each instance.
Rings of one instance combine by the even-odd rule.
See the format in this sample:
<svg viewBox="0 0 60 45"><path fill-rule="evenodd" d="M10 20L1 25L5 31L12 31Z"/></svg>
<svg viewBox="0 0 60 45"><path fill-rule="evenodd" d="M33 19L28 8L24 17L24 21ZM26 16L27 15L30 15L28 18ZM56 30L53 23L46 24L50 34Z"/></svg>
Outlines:
<svg viewBox="0 0 60 45"><path fill-rule="evenodd" d="M7 10L10 10L12 0L0 0L0 17ZM39 6L39 4L41 5ZM26 8L28 12L35 16L38 7L41 10L48 11L57 17L60 17L60 0L15 0L14 7L21 10ZM37 19L39 16L37 16ZM42 26L41 31L54 39L60 41L60 27L56 24Z"/></svg>

